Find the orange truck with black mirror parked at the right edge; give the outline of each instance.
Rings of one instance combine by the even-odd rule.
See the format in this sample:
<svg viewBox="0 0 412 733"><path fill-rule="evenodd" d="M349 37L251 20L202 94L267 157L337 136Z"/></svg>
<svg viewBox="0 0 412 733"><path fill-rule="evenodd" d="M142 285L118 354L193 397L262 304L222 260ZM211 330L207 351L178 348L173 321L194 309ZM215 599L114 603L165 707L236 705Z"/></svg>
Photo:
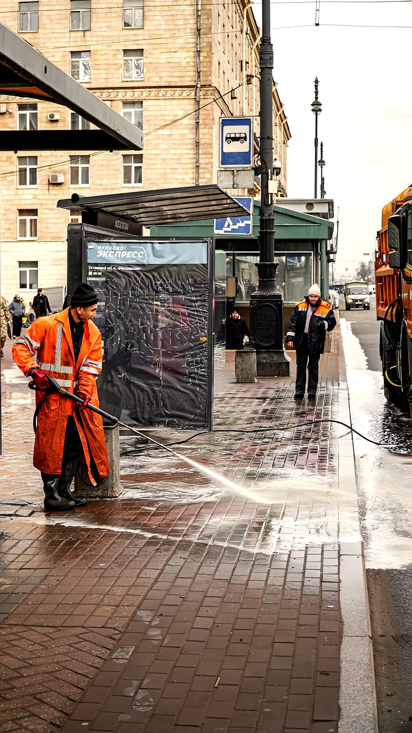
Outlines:
<svg viewBox="0 0 412 733"><path fill-rule="evenodd" d="M376 316L385 397L412 415L412 185L382 210L375 252Z"/></svg>

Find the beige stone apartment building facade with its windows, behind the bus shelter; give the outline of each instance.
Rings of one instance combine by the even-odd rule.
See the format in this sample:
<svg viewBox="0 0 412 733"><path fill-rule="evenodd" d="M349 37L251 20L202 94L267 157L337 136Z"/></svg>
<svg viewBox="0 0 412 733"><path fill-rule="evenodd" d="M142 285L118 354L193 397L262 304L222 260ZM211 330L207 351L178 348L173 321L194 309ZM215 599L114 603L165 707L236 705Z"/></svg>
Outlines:
<svg viewBox="0 0 412 733"><path fill-rule="evenodd" d="M144 151L1 154L1 291L28 303L66 282L58 199L216 183L218 121L252 115L259 137L259 41L249 0L9 0L0 21L144 133ZM287 188L290 131L273 85L274 155ZM0 130L88 128L62 106L0 95ZM238 195L246 191L236 191ZM259 196L255 186L254 194Z"/></svg>

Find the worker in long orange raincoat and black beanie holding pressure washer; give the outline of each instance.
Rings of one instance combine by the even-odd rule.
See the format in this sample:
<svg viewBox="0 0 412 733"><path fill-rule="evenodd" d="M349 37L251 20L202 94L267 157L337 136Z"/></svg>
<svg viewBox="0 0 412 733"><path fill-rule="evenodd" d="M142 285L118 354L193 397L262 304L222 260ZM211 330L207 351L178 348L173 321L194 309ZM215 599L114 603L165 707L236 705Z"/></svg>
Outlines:
<svg viewBox="0 0 412 733"><path fill-rule="evenodd" d="M98 407L96 377L102 369L102 339L92 323L98 295L87 283L76 287L70 308L37 318L26 336L15 340L12 355L36 386L36 405L46 395L37 415L33 464L41 471L45 511L74 509L86 500L73 496L70 485L78 460L84 460L93 485L108 475L108 457L101 416L87 410ZM37 363L34 356L37 352ZM47 393L51 377L84 399L80 408L56 391Z"/></svg>

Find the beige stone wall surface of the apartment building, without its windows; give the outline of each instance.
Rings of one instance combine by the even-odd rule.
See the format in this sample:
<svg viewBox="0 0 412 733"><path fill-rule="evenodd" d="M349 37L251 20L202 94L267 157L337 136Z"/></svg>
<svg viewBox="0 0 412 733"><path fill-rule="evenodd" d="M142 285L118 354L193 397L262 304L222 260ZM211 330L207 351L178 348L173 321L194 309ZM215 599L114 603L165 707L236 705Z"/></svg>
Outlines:
<svg viewBox="0 0 412 733"><path fill-rule="evenodd" d="M245 4L245 0L230 4L201 0L200 185L216 183L219 117L256 115L254 128L259 135L257 77L249 79L245 94L243 86L235 89L246 81L246 74L257 74L259 70L259 29L249 7L243 34ZM18 4L13 10L2 10L0 20L18 32ZM138 188L195 185L196 0L181 0L178 4L147 2L143 29L122 27L122 0L111 0L109 7L106 1L92 0L91 29L86 31L70 31L69 0L59 0L57 8L40 2L38 32L19 35L68 74L70 52L90 51L90 81L82 84L119 114L124 102L142 103L144 133L141 185L123 183L123 152L90 151L89 185L81 187L70 185L69 160L70 155L85 155L84 151L19 150L17 154L1 154L1 290L7 299L21 290L28 302L35 292L20 288L19 262L38 262L38 284L46 289L66 282L70 214L56 209L58 199L70 198L73 191L94 196ZM125 81L122 52L132 49L143 49L143 78ZM235 89L233 95L231 89ZM70 127L67 108L5 95L0 101L7 107L7 112L0 115L0 130L18 128L18 104L23 103L37 103L39 129ZM282 110L276 87L273 105L276 111ZM49 121L49 112L59 112L59 121ZM283 111L281 118L286 119ZM274 133L275 137L283 133L286 141L290 138L287 123L281 130L278 122ZM286 146L281 139L276 139L274 150L275 154L278 151L279 159L282 149L285 151ZM17 185L18 158L29 155L37 155L37 186L21 188ZM63 174L64 183L51 184L51 173ZM284 164L284 189L285 173ZM246 194L246 191L233 193ZM35 240L18 238L18 210L37 210Z"/></svg>

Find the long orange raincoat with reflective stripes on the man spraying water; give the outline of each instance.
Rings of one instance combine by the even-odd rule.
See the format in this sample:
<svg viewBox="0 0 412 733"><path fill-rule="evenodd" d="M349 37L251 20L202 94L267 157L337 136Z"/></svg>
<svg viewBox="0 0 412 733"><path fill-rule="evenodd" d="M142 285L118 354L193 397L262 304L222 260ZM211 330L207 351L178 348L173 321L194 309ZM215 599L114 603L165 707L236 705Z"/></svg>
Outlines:
<svg viewBox="0 0 412 733"><path fill-rule="evenodd" d="M36 352L37 364L34 361ZM27 335L15 340L12 355L26 377L29 369L40 367L68 391L87 394L91 404L98 407L96 377L102 369L102 339L92 321L84 324L84 336L76 364L68 308L52 316L37 318L28 328ZM36 392L36 405L41 397L42 393ZM67 416L71 414L74 414L81 438L90 481L96 485L90 470L91 457L100 479L107 476L109 471L101 416L87 409L80 415L78 410L73 410L72 400L62 397L58 392L48 395L37 416L33 464L44 474L62 472Z"/></svg>

